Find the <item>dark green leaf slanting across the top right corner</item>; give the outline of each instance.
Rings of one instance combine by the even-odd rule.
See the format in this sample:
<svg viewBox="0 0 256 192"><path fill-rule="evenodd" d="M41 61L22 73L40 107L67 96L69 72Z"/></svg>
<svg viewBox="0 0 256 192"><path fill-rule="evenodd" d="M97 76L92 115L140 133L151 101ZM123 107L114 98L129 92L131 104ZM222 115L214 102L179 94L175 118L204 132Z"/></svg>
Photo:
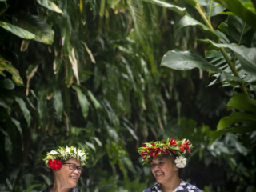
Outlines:
<svg viewBox="0 0 256 192"><path fill-rule="evenodd" d="M239 0L215 0L225 6L228 10L232 11L239 18L242 18L244 22L256 30L256 14L250 9L246 8Z"/></svg>

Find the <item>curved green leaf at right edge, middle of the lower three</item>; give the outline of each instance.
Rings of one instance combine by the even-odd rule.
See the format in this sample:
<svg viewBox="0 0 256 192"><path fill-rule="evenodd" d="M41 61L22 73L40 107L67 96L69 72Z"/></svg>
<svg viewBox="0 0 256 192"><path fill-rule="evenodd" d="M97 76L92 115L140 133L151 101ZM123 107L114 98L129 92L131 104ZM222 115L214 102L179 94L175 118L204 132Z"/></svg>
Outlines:
<svg viewBox="0 0 256 192"><path fill-rule="evenodd" d="M222 118L218 122L217 130L222 130L227 126L230 126L236 122L255 122L256 115L255 114L245 114L242 112L237 112L231 114L229 117Z"/></svg>

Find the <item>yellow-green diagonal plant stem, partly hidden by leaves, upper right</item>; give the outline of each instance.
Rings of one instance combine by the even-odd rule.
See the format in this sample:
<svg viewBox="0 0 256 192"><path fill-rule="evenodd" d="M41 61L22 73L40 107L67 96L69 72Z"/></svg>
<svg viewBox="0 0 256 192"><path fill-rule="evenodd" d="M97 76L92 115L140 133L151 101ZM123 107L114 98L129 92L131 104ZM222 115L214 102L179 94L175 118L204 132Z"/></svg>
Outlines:
<svg viewBox="0 0 256 192"><path fill-rule="evenodd" d="M256 1L256 0L254 0L254 1ZM201 15L202 20L206 23L206 26L208 26L208 27L210 28L210 30L213 30L213 32L214 32L213 26L211 25L210 21L207 20L206 15L203 13L201 7L200 7L199 5L197 5L197 6L196 6L196 9L198 10L199 14ZM215 42L215 41L214 41L214 42ZM218 41L218 43L221 43L221 42ZM226 62L227 62L228 65L230 66L230 69L232 70L234 76L240 78L240 76L239 76L239 74L238 74L238 71L237 71L237 69L235 68L234 62L231 62L229 56L228 56L227 53L226 53L226 50L225 50L223 47L220 48L220 50L221 50L221 52L222 52L224 58L226 59ZM241 82L238 82L238 85L240 86L242 92L245 93L245 94L247 94L247 95L249 96L249 94L248 94L248 92L247 92L247 90L246 90L246 86L245 86L244 84L242 84Z"/></svg>

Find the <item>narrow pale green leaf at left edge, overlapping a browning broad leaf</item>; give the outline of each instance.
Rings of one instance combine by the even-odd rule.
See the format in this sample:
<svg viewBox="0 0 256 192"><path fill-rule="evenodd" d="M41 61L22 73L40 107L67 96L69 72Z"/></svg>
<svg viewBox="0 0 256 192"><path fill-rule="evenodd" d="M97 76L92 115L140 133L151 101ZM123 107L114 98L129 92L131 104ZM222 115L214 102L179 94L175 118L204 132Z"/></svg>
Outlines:
<svg viewBox="0 0 256 192"><path fill-rule="evenodd" d="M6 30L9 30L13 34L16 34L20 38L33 39L35 37L35 35L30 33L30 31L23 30L22 28L11 25L7 22L0 21L0 26Z"/></svg>

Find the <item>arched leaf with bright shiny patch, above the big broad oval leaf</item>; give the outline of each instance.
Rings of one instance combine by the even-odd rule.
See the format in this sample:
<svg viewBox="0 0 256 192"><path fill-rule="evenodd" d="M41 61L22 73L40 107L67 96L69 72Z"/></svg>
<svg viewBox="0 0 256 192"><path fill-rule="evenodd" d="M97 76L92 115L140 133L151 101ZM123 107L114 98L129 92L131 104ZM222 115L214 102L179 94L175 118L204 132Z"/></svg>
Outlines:
<svg viewBox="0 0 256 192"><path fill-rule="evenodd" d="M194 18L191 18L188 15L185 15L177 24L175 27L176 30L184 27L184 26L198 26L201 30L205 31L207 34L210 35L211 38L218 41L218 34L214 32L214 30L211 30L208 26L202 24L202 22L198 22Z"/></svg>

